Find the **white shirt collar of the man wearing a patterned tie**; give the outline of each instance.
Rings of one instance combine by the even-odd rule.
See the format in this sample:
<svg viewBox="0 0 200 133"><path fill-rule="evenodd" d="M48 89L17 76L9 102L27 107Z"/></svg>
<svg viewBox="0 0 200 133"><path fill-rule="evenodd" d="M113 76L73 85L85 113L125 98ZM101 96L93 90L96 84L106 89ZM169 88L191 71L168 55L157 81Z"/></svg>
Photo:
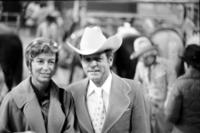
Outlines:
<svg viewBox="0 0 200 133"><path fill-rule="evenodd" d="M112 74L109 73L107 79L105 80L105 82L103 83L103 85L101 87L97 87L94 82L92 80L89 81L89 86L88 86L88 92L87 92L87 96L92 95L93 93L98 93L100 94L101 89L103 89L104 93L106 93L107 95L110 94L110 89L111 89L111 82L112 82Z"/></svg>

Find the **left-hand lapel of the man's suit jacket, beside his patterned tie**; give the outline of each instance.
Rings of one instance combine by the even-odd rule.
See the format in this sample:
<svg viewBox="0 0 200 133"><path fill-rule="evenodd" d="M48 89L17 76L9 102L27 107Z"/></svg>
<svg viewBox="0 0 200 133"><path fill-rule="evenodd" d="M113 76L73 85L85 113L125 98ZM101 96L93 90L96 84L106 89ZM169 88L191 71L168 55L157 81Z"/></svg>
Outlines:
<svg viewBox="0 0 200 133"><path fill-rule="evenodd" d="M80 84L79 86L80 89L78 90L78 92L76 92L77 96L75 102L77 103L76 111L80 124L83 126L85 130L87 130L88 133L92 133L94 132L94 129L92 127L92 123L90 120L86 104L87 87L88 87L88 79L85 79Z"/></svg>

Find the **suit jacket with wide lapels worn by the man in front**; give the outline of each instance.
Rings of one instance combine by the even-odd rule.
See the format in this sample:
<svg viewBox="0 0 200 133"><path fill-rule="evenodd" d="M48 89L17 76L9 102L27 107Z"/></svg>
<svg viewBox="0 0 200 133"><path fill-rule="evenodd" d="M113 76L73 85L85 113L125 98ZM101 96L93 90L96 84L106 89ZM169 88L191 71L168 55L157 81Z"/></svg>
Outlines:
<svg viewBox="0 0 200 133"><path fill-rule="evenodd" d="M133 80L112 74L109 107L102 133L148 133L149 118L141 86ZM94 133L87 109L86 94L89 79L70 85L67 89L74 97L77 118L82 133Z"/></svg>

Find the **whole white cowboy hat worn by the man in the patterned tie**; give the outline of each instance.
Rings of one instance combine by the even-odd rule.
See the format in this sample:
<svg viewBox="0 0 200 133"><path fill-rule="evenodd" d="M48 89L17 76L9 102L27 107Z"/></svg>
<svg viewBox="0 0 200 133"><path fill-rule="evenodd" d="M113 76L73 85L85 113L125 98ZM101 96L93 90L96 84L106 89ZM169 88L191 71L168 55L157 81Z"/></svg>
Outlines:
<svg viewBox="0 0 200 133"><path fill-rule="evenodd" d="M100 27L86 27L83 32L79 48L69 42L67 42L67 44L75 52L81 55L91 55L108 49L115 52L122 44L122 37L116 34L106 38Z"/></svg>

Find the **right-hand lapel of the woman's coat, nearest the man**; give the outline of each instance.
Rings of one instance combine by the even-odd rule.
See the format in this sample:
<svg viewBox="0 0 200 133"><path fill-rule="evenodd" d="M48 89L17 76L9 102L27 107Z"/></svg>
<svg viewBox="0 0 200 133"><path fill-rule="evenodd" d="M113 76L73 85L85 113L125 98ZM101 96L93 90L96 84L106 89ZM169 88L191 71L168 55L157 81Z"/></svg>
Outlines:
<svg viewBox="0 0 200 133"><path fill-rule="evenodd" d="M52 83L48 114L48 133L60 133L65 122L65 114L59 102L58 88ZM58 125L58 126L54 126Z"/></svg>

